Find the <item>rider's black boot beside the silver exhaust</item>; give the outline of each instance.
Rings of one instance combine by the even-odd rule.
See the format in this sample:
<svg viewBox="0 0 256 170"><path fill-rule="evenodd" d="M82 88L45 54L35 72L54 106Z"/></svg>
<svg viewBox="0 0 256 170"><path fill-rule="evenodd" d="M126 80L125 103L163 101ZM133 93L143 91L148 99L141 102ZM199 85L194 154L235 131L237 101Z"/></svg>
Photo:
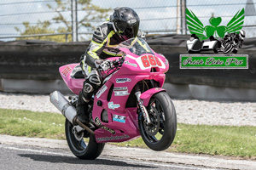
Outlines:
<svg viewBox="0 0 256 170"><path fill-rule="evenodd" d="M89 123L89 114L88 114L88 102L89 100L84 99L84 94L81 91L79 94L79 100L76 105L77 118L80 122L84 124Z"/></svg>

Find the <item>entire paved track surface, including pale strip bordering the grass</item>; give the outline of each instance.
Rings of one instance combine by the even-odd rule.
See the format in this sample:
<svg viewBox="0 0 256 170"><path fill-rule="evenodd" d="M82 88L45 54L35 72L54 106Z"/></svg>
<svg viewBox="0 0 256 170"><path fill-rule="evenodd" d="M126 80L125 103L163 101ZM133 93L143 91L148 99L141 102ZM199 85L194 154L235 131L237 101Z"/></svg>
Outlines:
<svg viewBox="0 0 256 170"><path fill-rule="evenodd" d="M65 140L0 135L0 169L248 169L256 161L156 152L107 144L96 160L79 160Z"/></svg>

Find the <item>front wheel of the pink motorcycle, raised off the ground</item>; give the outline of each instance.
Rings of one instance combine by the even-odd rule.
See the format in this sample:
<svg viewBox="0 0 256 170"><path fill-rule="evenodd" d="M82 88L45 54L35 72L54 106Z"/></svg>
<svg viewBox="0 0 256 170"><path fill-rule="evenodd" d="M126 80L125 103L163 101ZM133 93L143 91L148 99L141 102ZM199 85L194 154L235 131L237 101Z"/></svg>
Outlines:
<svg viewBox="0 0 256 170"><path fill-rule="evenodd" d="M147 107L151 123L147 125L143 114L138 124L145 144L152 150L166 150L173 142L177 130L177 116L172 99L165 92L154 94Z"/></svg>

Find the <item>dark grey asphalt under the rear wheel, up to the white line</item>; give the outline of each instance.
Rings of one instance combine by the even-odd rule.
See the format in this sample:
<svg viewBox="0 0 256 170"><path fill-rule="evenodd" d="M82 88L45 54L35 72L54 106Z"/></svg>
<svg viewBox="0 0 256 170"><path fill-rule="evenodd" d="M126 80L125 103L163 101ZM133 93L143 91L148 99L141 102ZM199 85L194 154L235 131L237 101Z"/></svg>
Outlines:
<svg viewBox="0 0 256 170"><path fill-rule="evenodd" d="M6 170L49 170L49 169L199 169L208 168L191 167L185 165L154 163L148 161L134 161L100 156L96 160L79 160L67 150L45 149L35 147L0 145L0 169Z"/></svg>

